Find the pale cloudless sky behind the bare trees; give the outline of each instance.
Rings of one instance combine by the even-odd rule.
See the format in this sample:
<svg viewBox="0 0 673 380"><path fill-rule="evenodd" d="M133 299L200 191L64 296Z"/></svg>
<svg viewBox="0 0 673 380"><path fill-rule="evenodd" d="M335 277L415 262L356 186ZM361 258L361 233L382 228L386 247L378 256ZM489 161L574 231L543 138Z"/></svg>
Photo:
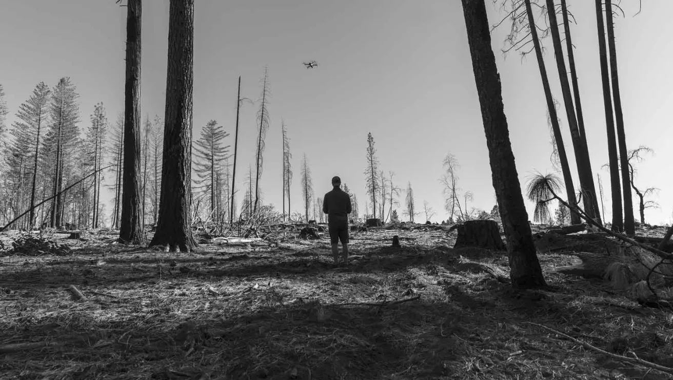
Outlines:
<svg viewBox="0 0 673 380"><path fill-rule="evenodd" d="M489 24L505 12L486 1ZM594 177L605 195L610 220L606 126L593 1L568 0L577 24L571 26ZM667 175L673 153L673 41L668 15L673 1L649 0L637 16L637 1L625 1L626 17L615 20L621 99L629 149L655 152L637 164L636 184L660 189L660 209L646 210L652 224L672 222L673 180ZM141 113L164 117L168 51L168 0L143 2ZM231 133L233 146L238 76L242 97L258 100L264 67L269 69L271 127L267 133L260 186L264 201L282 208L281 119L291 139L293 212L302 212L302 157L306 154L316 196L341 176L365 210L367 133L376 141L380 169L394 172L396 185L411 183L415 207L427 201L446 219L439 178L442 160L457 158L458 186L472 191L468 208L495 205L486 139L481 121L465 23L458 0L197 0L194 20L194 139L215 119ZM542 22L542 20L540 20ZM97 102L114 122L123 112L126 8L114 0L22 0L0 13L0 84L9 115L38 82L54 86L69 76L79 93L81 129ZM535 172L553 172L546 102L533 54L503 55L509 30L492 34L503 84L505 114L522 188ZM561 101L551 38L545 60L555 97ZM302 62L316 60L306 69ZM254 162L258 104L241 109L238 173ZM573 148L559 108L566 151ZM237 174L238 174L237 173ZM560 175L560 174L559 174ZM573 168L575 186L579 185ZM111 180L112 176L108 175ZM244 175L237 176L242 187ZM598 190L598 183L596 183ZM110 194L106 198L110 199ZM242 196L238 197L239 201ZM104 199L105 200L105 199ZM400 195L400 203L404 193ZM637 205L637 203L635 203ZM526 201L532 219L534 205ZM106 210L111 210L110 205ZM396 207L402 214L404 205ZM638 215L637 210L634 211ZM425 215L416 217L425 221Z"/></svg>

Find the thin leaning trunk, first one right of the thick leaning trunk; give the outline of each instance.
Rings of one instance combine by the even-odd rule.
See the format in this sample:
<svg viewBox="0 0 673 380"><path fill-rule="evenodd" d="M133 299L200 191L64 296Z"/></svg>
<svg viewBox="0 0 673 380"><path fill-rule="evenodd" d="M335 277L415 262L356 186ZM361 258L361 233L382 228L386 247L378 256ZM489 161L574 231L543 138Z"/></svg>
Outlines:
<svg viewBox="0 0 673 380"><path fill-rule="evenodd" d="M554 98L551 94L551 86L549 86L549 77L547 76L546 67L544 66L544 58L542 57L542 46L538 39L538 31L535 26L535 18L530 5L530 0L524 0L526 3L526 14L528 15L528 26L530 29L530 37L533 40L535 55L538 59L538 68L540 69L540 76L542 77L542 88L544 88L544 98L546 98L547 109L549 110L549 119L551 128L554 132L554 139L556 141L557 151L559 152L559 163L561 164L561 171L563 172L563 183L565 183L565 193L568 202L571 205L577 205L575 198L575 185L573 185L573 177L570 172L570 164L568 156L565 154L565 145L563 144L563 135L561 135L561 127L559 126L559 117L556 113L556 106ZM570 221L572 224L579 224L581 220L576 212L570 213Z"/></svg>

